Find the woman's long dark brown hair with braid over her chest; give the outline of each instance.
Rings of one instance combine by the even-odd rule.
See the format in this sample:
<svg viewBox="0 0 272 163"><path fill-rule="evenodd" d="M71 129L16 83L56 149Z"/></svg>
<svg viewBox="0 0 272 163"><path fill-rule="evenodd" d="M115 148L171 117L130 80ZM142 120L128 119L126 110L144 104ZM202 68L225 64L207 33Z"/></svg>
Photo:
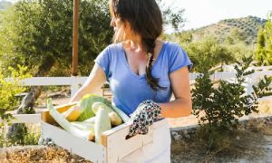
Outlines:
<svg viewBox="0 0 272 163"><path fill-rule="evenodd" d="M141 35L144 51L149 54L146 66L146 79L154 91L165 90L159 85L159 79L151 74L156 39L162 33L162 15L155 0L111 0L110 10L119 17L124 25L128 22L134 34ZM124 30L125 28L122 28ZM114 42L124 41L124 31L114 35Z"/></svg>

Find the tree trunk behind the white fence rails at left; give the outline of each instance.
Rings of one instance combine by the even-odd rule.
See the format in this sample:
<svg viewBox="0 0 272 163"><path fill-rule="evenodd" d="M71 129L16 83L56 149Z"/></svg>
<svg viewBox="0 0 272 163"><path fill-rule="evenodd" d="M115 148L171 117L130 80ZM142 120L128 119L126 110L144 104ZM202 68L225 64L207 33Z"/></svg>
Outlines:
<svg viewBox="0 0 272 163"><path fill-rule="evenodd" d="M53 67L55 60L52 55L44 55L40 62L38 71L34 74L35 77L46 76ZM24 96L24 99L17 110L18 114L31 114L35 113L34 102L41 94L41 86L31 87L30 91ZM13 143L24 145L24 136L27 134L25 124L13 124L7 132L7 138Z"/></svg>

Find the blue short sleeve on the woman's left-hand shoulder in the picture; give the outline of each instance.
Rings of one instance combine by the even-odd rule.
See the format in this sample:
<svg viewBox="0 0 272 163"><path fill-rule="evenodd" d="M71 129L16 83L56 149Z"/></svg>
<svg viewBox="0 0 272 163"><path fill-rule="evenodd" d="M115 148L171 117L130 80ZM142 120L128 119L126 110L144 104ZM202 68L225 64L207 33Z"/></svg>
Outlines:
<svg viewBox="0 0 272 163"><path fill-rule="evenodd" d="M111 75L111 72L110 72L111 57L110 57L109 47L105 48L102 51L102 53L100 53L96 57L94 62L97 63L102 68L102 71L105 72L107 81L109 81L109 78Z"/></svg>

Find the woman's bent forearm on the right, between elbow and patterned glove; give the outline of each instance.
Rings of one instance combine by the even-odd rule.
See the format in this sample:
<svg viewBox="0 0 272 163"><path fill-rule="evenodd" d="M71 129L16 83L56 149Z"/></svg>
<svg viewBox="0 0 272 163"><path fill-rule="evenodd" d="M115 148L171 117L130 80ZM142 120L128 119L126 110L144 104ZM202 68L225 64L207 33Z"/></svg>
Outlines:
<svg viewBox="0 0 272 163"><path fill-rule="evenodd" d="M164 118L187 117L191 114L191 101L177 99L168 103L160 103L161 114Z"/></svg>

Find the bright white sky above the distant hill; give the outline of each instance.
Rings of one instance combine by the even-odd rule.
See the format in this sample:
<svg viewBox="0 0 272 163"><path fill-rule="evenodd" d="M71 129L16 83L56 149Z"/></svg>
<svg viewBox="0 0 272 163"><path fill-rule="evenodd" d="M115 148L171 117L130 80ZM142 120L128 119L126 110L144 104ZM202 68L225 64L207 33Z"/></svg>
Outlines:
<svg viewBox="0 0 272 163"><path fill-rule="evenodd" d="M15 2L17 0L7 0ZM162 0L166 4L185 9L184 30L216 24L228 18L248 15L267 18L272 0Z"/></svg>

